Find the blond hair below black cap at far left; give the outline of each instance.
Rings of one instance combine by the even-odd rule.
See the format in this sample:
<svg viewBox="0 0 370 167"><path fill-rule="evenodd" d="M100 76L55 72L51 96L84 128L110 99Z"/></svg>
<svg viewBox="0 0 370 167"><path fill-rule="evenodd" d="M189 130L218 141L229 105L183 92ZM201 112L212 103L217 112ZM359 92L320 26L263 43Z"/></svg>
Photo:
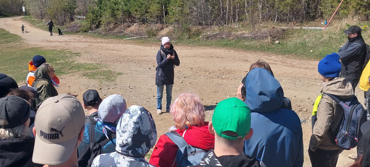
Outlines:
<svg viewBox="0 0 370 167"><path fill-rule="evenodd" d="M0 119L0 125L8 125L8 121L5 119ZM0 138L27 138L31 137L30 128L26 127L24 124L17 126L15 128L3 129L0 128Z"/></svg>

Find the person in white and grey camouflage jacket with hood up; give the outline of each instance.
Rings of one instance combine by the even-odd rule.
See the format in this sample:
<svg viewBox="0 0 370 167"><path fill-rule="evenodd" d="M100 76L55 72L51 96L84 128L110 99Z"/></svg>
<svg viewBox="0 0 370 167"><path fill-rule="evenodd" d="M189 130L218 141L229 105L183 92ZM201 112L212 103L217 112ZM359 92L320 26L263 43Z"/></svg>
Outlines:
<svg viewBox="0 0 370 167"><path fill-rule="evenodd" d="M129 107L117 124L116 151L95 157L91 167L155 167L145 160L157 140L152 114L141 106Z"/></svg>

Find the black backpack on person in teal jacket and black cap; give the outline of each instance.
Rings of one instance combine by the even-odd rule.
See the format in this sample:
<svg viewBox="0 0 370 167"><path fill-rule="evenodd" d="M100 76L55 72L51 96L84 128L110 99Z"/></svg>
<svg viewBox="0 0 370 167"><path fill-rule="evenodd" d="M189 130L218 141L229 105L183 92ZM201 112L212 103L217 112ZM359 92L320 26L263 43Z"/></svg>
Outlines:
<svg viewBox="0 0 370 167"><path fill-rule="evenodd" d="M103 154L102 147L104 147L109 141L113 140L116 134L112 134L111 139L106 138L100 143L95 141L95 124L90 126L89 132L89 144L82 150L81 155L78 157L78 166L80 167L91 167L92 161L95 157ZM112 141L113 142L113 141Z"/></svg>

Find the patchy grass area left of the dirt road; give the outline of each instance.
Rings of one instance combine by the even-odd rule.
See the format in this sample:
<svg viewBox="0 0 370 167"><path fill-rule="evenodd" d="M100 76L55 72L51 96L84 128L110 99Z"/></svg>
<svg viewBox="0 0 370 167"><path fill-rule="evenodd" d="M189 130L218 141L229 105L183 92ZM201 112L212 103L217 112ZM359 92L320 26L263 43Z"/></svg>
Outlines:
<svg viewBox="0 0 370 167"><path fill-rule="evenodd" d="M22 37L0 29L0 66L1 73L13 77L17 83L24 83L28 74L28 62L36 54L44 56L48 63L53 64L58 76L85 71L92 79L114 81L117 75L111 70L104 70L101 64L77 63L74 58L80 53L65 50L46 50L39 47L24 47ZM101 73L109 75L101 75Z"/></svg>

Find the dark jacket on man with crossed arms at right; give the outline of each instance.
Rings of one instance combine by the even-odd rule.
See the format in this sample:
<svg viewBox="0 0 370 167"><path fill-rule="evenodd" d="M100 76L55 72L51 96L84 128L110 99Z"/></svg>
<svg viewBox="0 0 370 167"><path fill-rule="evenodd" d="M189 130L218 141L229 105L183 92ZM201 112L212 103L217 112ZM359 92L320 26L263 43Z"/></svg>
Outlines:
<svg viewBox="0 0 370 167"><path fill-rule="evenodd" d="M349 81L360 80L364 64L364 56L366 53L365 51L365 41L361 36L349 39L349 41L347 41L338 51L339 59L342 60L340 76L343 76Z"/></svg>

